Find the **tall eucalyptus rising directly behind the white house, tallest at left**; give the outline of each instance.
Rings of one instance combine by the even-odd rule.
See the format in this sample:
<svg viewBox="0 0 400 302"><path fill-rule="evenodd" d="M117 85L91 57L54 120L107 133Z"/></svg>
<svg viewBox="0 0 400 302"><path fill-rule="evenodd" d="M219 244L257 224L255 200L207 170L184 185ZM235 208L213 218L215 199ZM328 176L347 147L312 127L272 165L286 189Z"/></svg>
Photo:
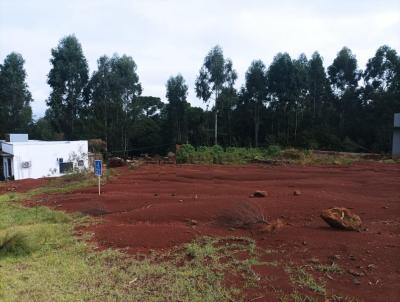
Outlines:
<svg viewBox="0 0 400 302"><path fill-rule="evenodd" d="M89 78L89 69L82 46L74 35L61 39L51 50L52 68L47 83L51 87L47 105L53 110L53 120L65 138L78 137L77 124L87 105L83 91ZM80 125L81 126L81 125Z"/></svg>

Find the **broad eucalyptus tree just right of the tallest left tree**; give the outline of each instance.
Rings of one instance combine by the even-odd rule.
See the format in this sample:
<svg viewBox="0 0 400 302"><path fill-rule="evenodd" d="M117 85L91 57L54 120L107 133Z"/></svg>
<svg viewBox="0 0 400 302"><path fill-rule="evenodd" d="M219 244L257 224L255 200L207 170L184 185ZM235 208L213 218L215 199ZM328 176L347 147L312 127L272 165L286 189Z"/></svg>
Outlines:
<svg viewBox="0 0 400 302"><path fill-rule="evenodd" d="M122 150L124 155L130 139L130 124L138 113L136 103L142 93L136 69L132 57L103 56L86 91L92 125L100 127L96 127L97 133L105 139L108 148Z"/></svg>

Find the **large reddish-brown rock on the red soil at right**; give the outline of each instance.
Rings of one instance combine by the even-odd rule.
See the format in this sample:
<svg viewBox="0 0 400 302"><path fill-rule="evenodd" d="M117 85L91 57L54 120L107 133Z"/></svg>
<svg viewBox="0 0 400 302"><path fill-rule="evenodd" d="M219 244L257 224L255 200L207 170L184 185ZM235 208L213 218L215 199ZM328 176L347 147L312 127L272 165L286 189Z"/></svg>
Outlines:
<svg viewBox="0 0 400 302"><path fill-rule="evenodd" d="M321 218L332 228L347 231L360 231L361 218L347 208L331 208L322 211Z"/></svg>

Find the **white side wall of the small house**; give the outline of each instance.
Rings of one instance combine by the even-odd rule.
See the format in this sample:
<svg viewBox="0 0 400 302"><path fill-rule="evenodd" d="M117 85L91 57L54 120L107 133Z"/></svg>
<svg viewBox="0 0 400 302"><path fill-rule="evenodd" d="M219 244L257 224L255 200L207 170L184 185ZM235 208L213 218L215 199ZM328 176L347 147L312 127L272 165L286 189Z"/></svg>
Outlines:
<svg viewBox="0 0 400 302"><path fill-rule="evenodd" d="M84 166L79 168L89 167L87 141L16 143L13 145L13 154L16 180L63 175L60 174L59 158L63 162L72 161L74 167L78 166L78 160L81 159ZM23 168L23 162L30 162L30 167Z"/></svg>

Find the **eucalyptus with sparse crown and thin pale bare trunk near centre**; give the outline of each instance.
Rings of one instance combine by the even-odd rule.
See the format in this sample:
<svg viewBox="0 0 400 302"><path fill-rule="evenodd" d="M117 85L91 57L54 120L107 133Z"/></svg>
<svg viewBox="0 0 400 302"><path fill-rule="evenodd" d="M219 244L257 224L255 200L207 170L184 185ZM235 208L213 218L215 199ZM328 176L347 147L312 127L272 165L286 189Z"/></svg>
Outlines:
<svg viewBox="0 0 400 302"><path fill-rule="evenodd" d="M224 88L232 88L237 79L232 61L225 59L220 46L213 47L204 59L196 79L195 90L198 98L208 103L214 99L214 144L218 144L217 102Z"/></svg>

